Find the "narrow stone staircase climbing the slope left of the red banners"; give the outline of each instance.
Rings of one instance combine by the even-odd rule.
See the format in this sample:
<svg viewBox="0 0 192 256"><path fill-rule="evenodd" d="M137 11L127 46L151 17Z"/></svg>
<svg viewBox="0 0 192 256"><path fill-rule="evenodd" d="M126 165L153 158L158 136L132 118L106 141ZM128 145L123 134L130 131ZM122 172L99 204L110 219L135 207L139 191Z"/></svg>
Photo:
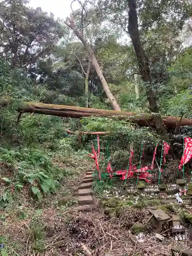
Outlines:
<svg viewBox="0 0 192 256"><path fill-rule="evenodd" d="M78 198L78 204L79 206L76 207L77 210L80 211L88 211L92 209L92 204L94 203L93 200L93 192L91 190L92 188L92 182L93 182L93 171L90 170L86 173L86 176L84 177L83 181L81 182L78 190L79 198Z"/></svg>

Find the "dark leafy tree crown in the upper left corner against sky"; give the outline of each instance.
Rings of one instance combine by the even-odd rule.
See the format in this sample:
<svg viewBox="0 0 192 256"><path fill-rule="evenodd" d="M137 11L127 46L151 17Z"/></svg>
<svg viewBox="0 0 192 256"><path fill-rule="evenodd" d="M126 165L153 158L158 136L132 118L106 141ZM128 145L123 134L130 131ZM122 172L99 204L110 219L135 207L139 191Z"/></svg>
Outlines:
<svg viewBox="0 0 192 256"><path fill-rule="evenodd" d="M63 35L54 16L41 8L27 7L24 0L0 3L0 55L12 67L29 67L51 54L54 44Z"/></svg>

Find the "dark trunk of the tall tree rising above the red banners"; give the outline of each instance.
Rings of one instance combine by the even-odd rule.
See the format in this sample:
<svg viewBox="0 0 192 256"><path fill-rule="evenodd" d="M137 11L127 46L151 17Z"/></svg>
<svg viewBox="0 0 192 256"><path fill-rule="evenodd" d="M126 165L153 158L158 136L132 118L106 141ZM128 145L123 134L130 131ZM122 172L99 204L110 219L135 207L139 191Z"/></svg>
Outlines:
<svg viewBox="0 0 192 256"><path fill-rule="evenodd" d="M138 18L137 18L137 11L136 11L136 3L135 0L127 0L129 3L129 25L128 25L128 31L131 37L131 40L133 42L133 46L135 49L135 53L138 60L139 70L141 73L142 80L145 82L145 85L148 87L146 90L147 100L149 103L149 108L152 113L154 113L154 122L156 125L157 130L159 133L162 133L163 135L166 134L166 129L163 124L163 121L161 119L160 115L156 115L156 113L159 112L157 101L155 98L155 95L153 93L153 90L151 87L151 73L150 73L150 67L148 63L148 58L146 57L143 47L141 45L141 41L139 38L139 29L138 29Z"/></svg>

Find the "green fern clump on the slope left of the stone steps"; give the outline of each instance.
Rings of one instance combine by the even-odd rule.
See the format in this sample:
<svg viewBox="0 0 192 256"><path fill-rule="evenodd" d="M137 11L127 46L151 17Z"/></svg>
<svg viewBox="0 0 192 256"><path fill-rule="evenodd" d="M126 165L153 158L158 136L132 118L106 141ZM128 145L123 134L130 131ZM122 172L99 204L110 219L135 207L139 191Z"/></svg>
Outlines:
<svg viewBox="0 0 192 256"><path fill-rule="evenodd" d="M22 190L24 184L28 184L32 196L38 200L43 194L54 193L59 185L59 180L65 175L63 169L53 165L51 159L43 155L41 151L29 150L6 150L0 148L2 161L11 164L17 173L12 177L2 179L6 182L8 188L12 187L17 191ZM5 189L2 196L3 202L9 202L10 189Z"/></svg>

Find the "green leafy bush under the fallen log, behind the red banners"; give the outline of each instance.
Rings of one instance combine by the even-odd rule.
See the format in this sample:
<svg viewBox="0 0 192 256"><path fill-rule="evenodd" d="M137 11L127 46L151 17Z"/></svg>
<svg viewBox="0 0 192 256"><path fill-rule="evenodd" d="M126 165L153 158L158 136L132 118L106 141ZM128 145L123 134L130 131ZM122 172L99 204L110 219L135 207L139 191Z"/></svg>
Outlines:
<svg viewBox="0 0 192 256"><path fill-rule="evenodd" d="M100 161L101 169L106 169L106 159L108 159L107 145L109 145L109 155L113 167L115 169L126 169L131 144L134 147L135 158L139 159L142 141L146 141L145 150L150 151L153 151L155 143L159 141L159 138L151 129L137 126L133 129L132 124L126 121L109 118L83 118L81 122L86 131L109 132L108 135L100 137L100 148L104 154L104 160ZM96 147L94 136L89 136L89 138L84 136L83 140L89 151L91 151L92 142Z"/></svg>

